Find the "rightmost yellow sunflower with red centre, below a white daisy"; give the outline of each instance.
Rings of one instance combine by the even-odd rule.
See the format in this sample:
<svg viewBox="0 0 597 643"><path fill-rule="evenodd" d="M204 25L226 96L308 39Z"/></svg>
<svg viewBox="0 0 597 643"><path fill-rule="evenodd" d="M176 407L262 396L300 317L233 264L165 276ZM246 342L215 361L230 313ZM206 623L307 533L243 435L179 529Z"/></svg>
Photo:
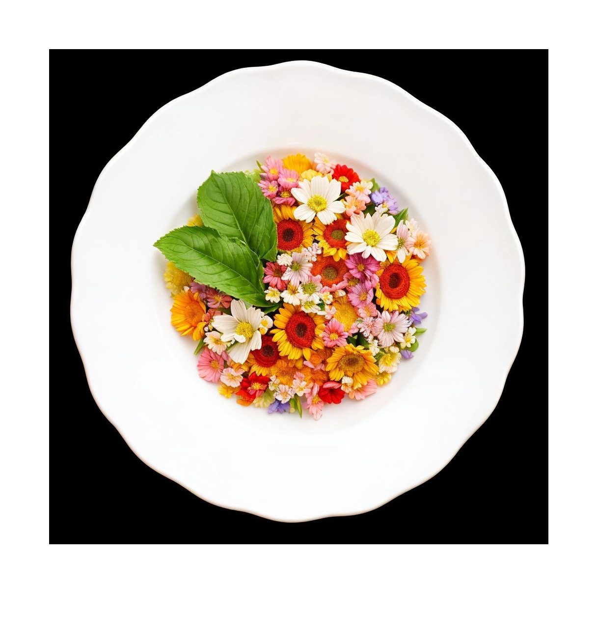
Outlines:
<svg viewBox="0 0 597 643"><path fill-rule="evenodd" d="M401 264L396 260L378 274L375 295L383 309L404 312L419 305L419 298L425 292L425 277L418 262L407 258Z"/></svg>

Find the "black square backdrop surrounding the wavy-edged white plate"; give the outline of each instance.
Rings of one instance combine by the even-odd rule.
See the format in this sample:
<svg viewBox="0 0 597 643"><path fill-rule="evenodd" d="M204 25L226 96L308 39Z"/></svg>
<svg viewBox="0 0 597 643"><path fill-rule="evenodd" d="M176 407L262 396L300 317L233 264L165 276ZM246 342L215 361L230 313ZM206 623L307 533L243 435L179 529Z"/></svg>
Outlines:
<svg viewBox="0 0 597 643"><path fill-rule="evenodd" d="M52 390L51 542L546 542L546 406L525 391L531 379L544 381L547 361L537 314L546 296L538 223L547 212L547 52L236 53L227 65L217 51L51 52L52 337L70 369ZM70 329L69 276L73 235L98 175L159 107L245 61L296 59L387 78L460 127L506 193L525 253L527 326L497 408L438 475L366 514L287 524L204 502L130 451L87 387ZM283 77L279 94L272 87L280 109L289 89ZM466 312L463 302L465 321Z"/></svg>

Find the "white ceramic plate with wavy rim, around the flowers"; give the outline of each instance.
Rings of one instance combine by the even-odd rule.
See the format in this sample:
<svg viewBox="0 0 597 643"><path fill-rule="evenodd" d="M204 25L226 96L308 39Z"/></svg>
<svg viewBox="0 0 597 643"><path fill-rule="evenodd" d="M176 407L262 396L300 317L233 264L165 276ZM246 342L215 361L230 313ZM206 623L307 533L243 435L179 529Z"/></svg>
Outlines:
<svg viewBox="0 0 597 643"><path fill-rule="evenodd" d="M366 100L338 100L349 90ZM212 168L294 151L375 176L433 242L414 359L319 422L247 409L197 376L152 246L195 213ZM89 386L130 448L204 500L274 520L368 511L440 471L494 410L522 336L524 260L490 168L399 87L314 62L239 69L157 111L100 175L72 268Z"/></svg>

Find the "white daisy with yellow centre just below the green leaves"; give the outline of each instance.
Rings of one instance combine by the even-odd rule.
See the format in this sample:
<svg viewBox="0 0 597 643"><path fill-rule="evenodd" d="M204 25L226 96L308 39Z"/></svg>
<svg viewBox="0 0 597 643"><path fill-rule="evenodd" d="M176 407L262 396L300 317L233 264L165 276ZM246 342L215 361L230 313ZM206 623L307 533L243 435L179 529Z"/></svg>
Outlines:
<svg viewBox="0 0 597 643"><path fill-rule="evenodd" d="M233 299L230 303L229 315L218 315L213 318L213 325L222 333L222 341L235 343L227 350L235 362L242 364L246 361L251 350L261 348L261 321L263 313L254 306L247 309L245 302Z"/></svg>

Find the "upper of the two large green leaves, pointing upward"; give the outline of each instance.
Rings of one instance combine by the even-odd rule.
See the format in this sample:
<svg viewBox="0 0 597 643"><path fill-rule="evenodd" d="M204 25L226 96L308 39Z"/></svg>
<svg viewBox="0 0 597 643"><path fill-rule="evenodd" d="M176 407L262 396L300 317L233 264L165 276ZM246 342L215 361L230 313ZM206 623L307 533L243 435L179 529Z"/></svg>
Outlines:
<svg viewBox="0 0 597 643"><path fill-rule="evenodd" d="M244 172L211 172L197 190L197 204L206 226L244 241L259 258L276 260L272 204Z"/></svg>

